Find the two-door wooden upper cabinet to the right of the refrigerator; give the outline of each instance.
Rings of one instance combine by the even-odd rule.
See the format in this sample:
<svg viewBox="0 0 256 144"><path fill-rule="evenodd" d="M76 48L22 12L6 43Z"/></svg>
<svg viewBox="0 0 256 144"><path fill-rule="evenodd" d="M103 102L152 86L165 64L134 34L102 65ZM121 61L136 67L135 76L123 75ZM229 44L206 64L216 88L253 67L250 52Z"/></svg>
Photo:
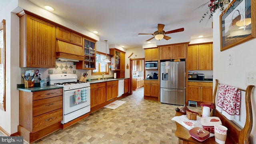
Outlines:
<svg viewBox="0 0 256 144"><path fill-rule="evenodd" d="M213 70L212 44L188 46L188 70Z"/></svg>

